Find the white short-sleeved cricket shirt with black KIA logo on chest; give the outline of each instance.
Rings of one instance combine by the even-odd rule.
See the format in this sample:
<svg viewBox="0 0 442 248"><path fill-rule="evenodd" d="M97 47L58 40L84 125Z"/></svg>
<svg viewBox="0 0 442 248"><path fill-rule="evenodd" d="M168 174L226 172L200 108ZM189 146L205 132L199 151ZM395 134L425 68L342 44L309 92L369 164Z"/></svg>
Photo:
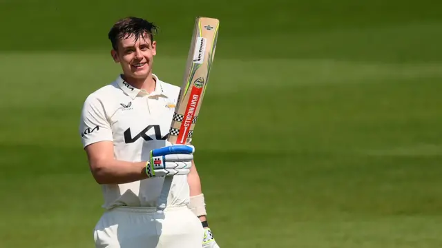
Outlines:
<svg viewBox="0 0 442 248"><path fill-rule="evenodd" d="M81 111L79 132L83 147L113 141L119 161L148 161L151 149L164 147L180 87L160 81L148 94L118 76L113 83L90 94ZM102 185L106 209L116 206L157 207L164 178ZM187 176L173 176L168 205L189 204Z"/></svg>

